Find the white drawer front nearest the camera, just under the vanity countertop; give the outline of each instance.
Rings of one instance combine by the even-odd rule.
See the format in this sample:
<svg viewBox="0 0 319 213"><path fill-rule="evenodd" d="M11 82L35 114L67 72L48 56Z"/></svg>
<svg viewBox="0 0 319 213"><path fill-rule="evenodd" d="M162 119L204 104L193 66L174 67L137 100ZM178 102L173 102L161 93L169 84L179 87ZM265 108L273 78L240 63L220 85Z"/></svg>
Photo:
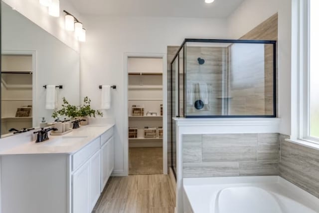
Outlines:
<svg viewBox="0 0 319 213"><path fill-rule="evenodd" d="M72 171L85 163L96 151L100 149L100 137L72 156Z"/></svg>

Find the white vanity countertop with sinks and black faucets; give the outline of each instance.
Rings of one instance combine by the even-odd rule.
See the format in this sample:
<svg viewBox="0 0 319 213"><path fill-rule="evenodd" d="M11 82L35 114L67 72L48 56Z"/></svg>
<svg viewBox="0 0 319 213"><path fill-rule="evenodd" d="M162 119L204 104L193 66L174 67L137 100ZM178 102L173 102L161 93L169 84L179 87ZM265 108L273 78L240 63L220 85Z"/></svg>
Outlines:
<svg viewBox="0 0 319 213"><path fill-rule="evenodd" d="M114 124L82 126L63 136L49 135L49 140L41 143L32 141L3 150L0 155L74 154L113 126ZM12 137L12 140L16 139Z"/></svg>

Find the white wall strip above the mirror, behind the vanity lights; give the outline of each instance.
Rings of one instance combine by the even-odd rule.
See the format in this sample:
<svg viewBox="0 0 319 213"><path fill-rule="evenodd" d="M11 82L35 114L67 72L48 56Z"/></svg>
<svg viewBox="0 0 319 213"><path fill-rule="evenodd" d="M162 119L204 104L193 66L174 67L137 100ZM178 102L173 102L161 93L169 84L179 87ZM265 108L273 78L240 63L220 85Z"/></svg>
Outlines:
<svg viewBox="0 0 319 213"><path fill-rule="evenodd" d="M42 27L45 31L49 32L63 43L79 51L79 42L74 36L74 32L68 32L64 28L64 12L75 15L80 19L80 15L69 2L69 0L60 0L60 17L52 17L48 14L48 8L42 6L39 0L3 0L5 3L16 9L18 12L29 18L35 24ZM80 19L81 20L81 19ZM83 23L85 24L85 23Z"/></svg>

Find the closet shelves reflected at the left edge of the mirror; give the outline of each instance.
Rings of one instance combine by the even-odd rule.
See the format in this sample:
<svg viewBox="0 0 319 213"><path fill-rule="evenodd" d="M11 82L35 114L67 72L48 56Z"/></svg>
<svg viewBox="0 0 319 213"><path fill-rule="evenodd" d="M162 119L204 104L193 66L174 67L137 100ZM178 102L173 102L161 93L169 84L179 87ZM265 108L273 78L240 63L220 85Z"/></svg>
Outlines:
<svg viewBox="0 0 319 213"><path fill-rule="evenodd" d="M32 128L32 54L1 54L1 135Z"/></svg>

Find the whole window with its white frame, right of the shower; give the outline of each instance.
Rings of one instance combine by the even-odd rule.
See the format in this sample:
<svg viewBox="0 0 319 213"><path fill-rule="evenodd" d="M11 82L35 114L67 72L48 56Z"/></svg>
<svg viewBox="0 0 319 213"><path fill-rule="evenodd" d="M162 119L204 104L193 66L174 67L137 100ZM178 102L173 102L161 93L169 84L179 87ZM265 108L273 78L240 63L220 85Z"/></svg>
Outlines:
<svg viewBox="0 0 319 213"><path fill-rule="evenodd" d="M294 0L291 140L319 144L319 0ZM311 144L308 144L311 146Z"/></svg>

